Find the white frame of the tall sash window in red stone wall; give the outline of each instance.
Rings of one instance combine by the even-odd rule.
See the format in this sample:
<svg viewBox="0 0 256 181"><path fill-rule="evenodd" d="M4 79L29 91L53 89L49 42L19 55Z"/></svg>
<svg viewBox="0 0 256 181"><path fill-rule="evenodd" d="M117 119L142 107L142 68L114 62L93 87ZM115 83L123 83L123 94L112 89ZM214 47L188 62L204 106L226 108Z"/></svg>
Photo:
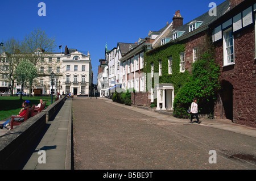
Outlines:
<svg viewBox="0 0 256 181"><path fill-rule="evenodd" d="M225 30L223 32L223 66L228 66L228 65L234 65L235 60L234 60L234 36L226 36L226 33L232 33L232 28L229 28L228 30ZM230 34L229 34L230 35ZM229 43L229 40L232 40L232 45L227 45ZM233 50L233 53L231 53L231 50ZM229 54L230 52L230 54ZM233 62L232 59L233 58Z"/></svg>

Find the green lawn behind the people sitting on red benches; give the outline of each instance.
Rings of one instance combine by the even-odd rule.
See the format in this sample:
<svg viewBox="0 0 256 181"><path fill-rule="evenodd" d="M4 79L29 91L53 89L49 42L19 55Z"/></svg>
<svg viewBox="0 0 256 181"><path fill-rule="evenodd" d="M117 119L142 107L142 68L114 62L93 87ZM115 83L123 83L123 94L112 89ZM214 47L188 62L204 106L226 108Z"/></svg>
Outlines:
<svg viewBox="0 0 256 181"><path fill-rule="evenodd" d="M39 100L46 101L46 107L51 104L51 97L22 97L23 100L19 100L19 96L0 96L0 120L6 119L11 115L18 115L22 109L22 102L25 100L30 101L30 106L33 104L39 104ZM55 98L53 98L53 101Z"/></svg>

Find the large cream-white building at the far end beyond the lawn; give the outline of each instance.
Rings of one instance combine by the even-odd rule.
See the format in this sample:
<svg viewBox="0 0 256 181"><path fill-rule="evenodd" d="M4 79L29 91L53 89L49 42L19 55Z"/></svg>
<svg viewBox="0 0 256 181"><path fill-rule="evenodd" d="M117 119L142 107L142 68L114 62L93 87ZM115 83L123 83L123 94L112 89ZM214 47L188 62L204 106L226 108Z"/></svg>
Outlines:
<svg viewBox="0 0 256 181"><path fill-rule="evenodd" d="M40 58L38 64L38 77L32 85L32 94L47 95L68 94L89 96L92 90L93 71L90 54L83 54L76 49L65 47L65 53L49 53ZM51 73L55 74L53 83ZM1 85L7 89L7 76L2 73L0 77ZM4 82L4 83L2 83ZM7 83L6 83L7 82ZM10 90L8 90L10 91ZM15 82L14 94L21 91L19 82ZM28 86L23 86L23 92L28 93Z"/></svg>

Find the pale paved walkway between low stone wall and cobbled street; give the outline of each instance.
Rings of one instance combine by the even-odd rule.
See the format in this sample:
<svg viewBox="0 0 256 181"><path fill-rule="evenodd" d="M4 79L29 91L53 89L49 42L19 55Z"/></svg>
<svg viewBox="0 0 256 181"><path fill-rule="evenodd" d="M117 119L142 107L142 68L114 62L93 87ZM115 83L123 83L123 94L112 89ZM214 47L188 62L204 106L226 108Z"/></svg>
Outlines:
<svg viewBox="0 0 256 181"><path fill-rule="evenodd" d="M72 99L68 98L53 121L48 121L44 134L23 170L70 170ZM39 150L46 151L46 163L39 163ZM43 161L40 157L40 161Z"/></svg>

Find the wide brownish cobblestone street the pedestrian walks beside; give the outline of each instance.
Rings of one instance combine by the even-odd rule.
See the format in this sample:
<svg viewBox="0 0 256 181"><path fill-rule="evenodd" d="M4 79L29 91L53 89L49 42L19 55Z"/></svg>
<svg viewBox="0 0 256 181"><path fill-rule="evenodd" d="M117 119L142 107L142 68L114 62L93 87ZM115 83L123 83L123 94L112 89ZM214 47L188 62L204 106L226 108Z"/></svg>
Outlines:
<svg viewBox="0 0 256 181"><path fill-rule="evenodd" d="M255 137L111 100L74 98L73 131L77 170L256 169Z"/></svg>

